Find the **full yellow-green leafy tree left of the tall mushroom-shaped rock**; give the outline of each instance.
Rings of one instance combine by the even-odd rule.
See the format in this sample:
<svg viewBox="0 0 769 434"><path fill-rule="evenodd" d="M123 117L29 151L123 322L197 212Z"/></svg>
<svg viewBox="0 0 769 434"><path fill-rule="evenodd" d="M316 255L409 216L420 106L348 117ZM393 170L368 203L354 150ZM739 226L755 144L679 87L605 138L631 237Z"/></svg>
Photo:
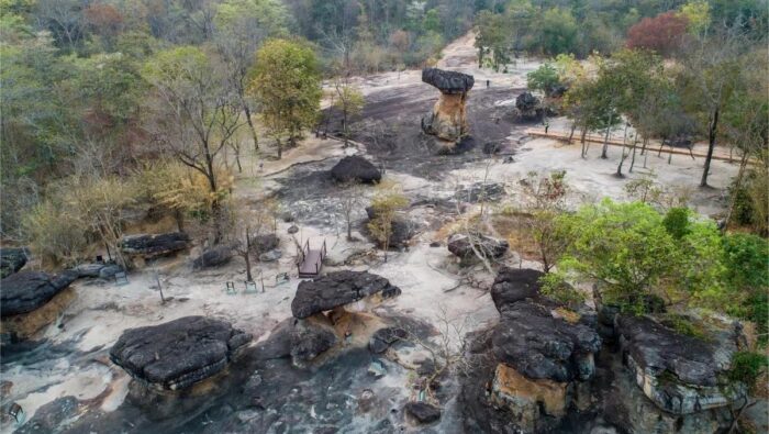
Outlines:
<svg viewBox="0 0 769 434"><path fill-rule="evenodd" d="M321 101L321 75L315 54L299 41L270 40L256 55L249 92L261 104L261 116L282 156L282 138L294 144L311 126Z"/></svg>

